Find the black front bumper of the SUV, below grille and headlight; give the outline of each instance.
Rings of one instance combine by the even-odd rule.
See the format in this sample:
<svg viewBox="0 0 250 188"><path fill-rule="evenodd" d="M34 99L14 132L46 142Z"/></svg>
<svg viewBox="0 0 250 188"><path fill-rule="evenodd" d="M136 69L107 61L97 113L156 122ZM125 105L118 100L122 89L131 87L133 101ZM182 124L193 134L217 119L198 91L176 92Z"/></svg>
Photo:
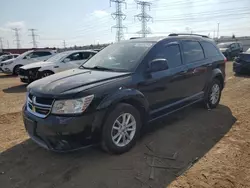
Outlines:
<svg viewBox="0 0 250 188"><path fill-rule="evenodd" d="M55 152L69 152L100 142L104 112L65 117L49 115L39 118L23 107L23 121L30 138L43 148Z"/></svg>

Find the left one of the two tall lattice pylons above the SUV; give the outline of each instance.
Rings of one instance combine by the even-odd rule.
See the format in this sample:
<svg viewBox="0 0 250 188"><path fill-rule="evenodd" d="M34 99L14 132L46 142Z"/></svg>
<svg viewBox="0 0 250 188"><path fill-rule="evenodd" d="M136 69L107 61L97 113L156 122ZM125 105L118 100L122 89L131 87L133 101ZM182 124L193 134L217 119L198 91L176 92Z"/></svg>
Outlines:
<svg viewBox="0 0 250 188"><path fill-rule="evenodd" d="M125 8L127 8L127 4L125 0L110 0L110 6L112 2L116 5L116 12L111 14L112 18L116 20L116 25L112 28L116 28L116 41L119 42L124 39L123 29L126 28L122 24L122 21L126 19L126 15L122 12L122 4L125 5Z"/></svg>

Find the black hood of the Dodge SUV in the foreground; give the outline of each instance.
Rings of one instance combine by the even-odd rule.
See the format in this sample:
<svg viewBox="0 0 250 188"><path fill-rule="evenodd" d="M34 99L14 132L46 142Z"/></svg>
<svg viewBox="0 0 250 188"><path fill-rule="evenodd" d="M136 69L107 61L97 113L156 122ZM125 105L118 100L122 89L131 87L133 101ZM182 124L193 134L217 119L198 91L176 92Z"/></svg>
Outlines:
<svg viewBox="0 0 250 188"><path fill-rule="evenodd" d="M130 73L127 72L108 72L79 68L71 69L31 83L28 86L28 91L37 95L56 97L80 87L81 91L84 91L107 82L118 81L118 78L123 78L128 75L130 75Z"/></svg>

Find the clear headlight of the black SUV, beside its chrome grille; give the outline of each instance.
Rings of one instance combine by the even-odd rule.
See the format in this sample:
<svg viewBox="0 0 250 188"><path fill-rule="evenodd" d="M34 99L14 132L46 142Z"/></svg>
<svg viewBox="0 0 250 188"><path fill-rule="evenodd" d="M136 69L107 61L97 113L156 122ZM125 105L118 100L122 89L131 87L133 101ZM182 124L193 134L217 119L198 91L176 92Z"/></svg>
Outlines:
<svg viewBox="0 0 250 188"><path fill-rule="evenodd" d="M92 102L94 95L79 99L55 101L52 108L53 114L78 114L84 112Z"/></svg>

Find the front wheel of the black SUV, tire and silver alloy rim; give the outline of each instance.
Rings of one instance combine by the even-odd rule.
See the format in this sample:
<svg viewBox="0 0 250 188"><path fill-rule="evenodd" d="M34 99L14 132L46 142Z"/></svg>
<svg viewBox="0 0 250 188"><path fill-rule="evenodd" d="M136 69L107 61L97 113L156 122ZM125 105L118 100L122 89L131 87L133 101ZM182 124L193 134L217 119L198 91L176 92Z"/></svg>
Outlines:
<svg viewBox="0 0 250 188"><path fill-rule="evenodd" d="M127 125L131 126L128 128L125 128L126 123L124 124L125 126L123 125L124 127L121 126L123 117L129 119ZM122 154L129 151L136 144L136 140L140 134L141 124L140 113L136 108L126 103L118 104L111 113L108 114L103 125L102 148L112 154Z"/></svg>

